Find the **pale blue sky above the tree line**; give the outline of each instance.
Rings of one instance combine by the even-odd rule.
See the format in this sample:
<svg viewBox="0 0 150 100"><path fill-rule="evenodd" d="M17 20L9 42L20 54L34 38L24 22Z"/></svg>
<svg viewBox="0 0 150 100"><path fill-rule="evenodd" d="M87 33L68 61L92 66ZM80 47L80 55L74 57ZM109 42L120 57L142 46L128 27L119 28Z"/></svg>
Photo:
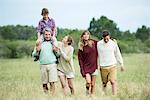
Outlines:
<svg viewBox="0 0 150 100"><path fill-rule="evenodd" d="M113 20L121 31L150 27L150 0L0 0L0 26L37 26L42 8L58 27L87 29L91 19Z"/></svg>

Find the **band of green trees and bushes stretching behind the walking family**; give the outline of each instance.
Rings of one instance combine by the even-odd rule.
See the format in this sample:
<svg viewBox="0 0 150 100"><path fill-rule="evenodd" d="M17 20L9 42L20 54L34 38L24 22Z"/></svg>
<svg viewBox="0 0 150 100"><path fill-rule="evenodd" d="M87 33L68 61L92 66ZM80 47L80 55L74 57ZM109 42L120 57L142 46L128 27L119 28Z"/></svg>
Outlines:
<svg viewBox="0 0 150 100"><path fill-rule="evenodd" d="M108 30L112 38L115 38L123 53L150 53L150 28L142 25L136 32L121 31L117 24L101 16L92 18L87 29L94 39L100 40L103 30ZM78 42L83 30L57 28L57 39L61 40L65 35L70 35L74 40L75 54ZM18 58L29 56L36 41L36 28L27 25L0 26L0 57Z"/></svg>

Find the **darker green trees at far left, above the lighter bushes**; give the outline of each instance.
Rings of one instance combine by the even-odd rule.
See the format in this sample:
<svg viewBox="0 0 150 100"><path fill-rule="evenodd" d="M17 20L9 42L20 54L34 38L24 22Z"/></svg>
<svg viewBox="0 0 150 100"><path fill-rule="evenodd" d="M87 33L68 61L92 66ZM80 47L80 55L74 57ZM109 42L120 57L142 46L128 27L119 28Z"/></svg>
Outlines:
<svg viewBox="0 0 150 100"><path fill-rule="evenodd" d="M0 27L0 38L6 40L35 39L36 31L33 26L7 25Z"/></svg>

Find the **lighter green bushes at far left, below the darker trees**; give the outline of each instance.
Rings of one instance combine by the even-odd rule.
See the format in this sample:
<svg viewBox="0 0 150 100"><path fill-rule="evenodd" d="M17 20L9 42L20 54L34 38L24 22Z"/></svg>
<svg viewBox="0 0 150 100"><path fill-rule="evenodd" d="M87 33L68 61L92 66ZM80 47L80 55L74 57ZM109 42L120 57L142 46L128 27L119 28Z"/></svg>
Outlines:
<svg viewBox="0 0 150 100"><path fill-rule="evenodd" d="M29 41L0 41L1 58L20 58L30 56L34 43Z"/></svg>

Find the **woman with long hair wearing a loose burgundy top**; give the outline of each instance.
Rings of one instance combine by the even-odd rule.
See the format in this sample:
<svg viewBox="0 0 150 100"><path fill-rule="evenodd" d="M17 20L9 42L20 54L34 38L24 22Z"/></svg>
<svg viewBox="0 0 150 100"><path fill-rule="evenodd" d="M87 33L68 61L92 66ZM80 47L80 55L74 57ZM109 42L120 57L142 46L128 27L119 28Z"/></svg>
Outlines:
<svg viewBox="0 0 150 100"><path fill-rule="evenodd" d="M86 80L86 94L91 95L95 90L97 75L97 41L91 39L90 32L84 31L79 42L78 60L80 72Z"/></svg>

